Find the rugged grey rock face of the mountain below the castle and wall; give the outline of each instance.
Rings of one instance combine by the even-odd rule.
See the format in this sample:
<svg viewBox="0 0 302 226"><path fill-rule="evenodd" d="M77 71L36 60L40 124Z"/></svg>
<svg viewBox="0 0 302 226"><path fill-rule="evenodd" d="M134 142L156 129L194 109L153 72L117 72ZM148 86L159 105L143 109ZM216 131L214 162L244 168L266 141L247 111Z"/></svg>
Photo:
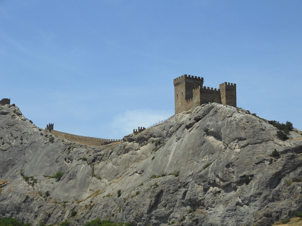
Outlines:
<svg viewBox="0 0 302 226"><path fill-rule="evenodd" d="M271 225L302 208L301 182L292 181L302 177L301 131L285 142L276 132L241 108L209 103L94 147L1 105L0 215L33 225Z"/></svg>

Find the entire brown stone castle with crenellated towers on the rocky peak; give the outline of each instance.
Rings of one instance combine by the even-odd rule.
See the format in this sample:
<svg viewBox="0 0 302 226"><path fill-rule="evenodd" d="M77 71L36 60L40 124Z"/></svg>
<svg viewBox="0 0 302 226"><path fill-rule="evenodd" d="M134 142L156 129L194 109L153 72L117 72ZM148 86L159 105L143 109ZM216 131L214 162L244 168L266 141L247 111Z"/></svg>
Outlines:
<svg viewBox="0 0 302 226"><path fill-rule="evenodd" d="M204 78L184 74L174 79L173 84L175 115L208 102L237 106L235 83L224 82L219 89L213 89L203 86Z"/></svg>

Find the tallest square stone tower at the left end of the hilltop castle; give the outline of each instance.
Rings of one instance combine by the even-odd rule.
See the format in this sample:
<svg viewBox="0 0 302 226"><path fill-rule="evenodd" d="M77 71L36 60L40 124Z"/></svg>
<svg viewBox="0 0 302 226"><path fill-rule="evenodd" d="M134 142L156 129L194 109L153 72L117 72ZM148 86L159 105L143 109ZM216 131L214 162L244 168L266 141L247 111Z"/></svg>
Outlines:
<svg viewBox="0 0 302 226"><path fill-rule="evenodd" d="M173 80L174 84L174 99L175 99L175 114L183 111L188 111L193 108L193 89L204 84L204 78L182 75Z"/></svg>

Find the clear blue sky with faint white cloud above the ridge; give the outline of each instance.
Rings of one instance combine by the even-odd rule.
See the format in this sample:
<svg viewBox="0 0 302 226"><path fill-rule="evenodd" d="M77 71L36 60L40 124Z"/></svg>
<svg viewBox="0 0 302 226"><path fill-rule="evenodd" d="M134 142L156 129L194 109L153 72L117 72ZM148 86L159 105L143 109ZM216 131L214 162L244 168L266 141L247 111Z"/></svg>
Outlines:
<svg viewBox="0 0 302 226"><path fill-rule="evenodd" d="M173 79L302 130L302 1L0 0L0 98L45 128L121 139L174 114Z"/></svg>

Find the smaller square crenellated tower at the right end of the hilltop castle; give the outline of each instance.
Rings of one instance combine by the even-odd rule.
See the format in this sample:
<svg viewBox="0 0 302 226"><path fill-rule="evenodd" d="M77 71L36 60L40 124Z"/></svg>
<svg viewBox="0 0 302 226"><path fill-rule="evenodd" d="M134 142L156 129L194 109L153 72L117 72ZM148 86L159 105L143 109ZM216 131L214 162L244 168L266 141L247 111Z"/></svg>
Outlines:
<svg viewBox="0 0 302 226"><path fill-rule="evenodd" d="M236 84L234 83L222 83L219 84L221 102L222 104L237 107L236 101Z"/></svg>

